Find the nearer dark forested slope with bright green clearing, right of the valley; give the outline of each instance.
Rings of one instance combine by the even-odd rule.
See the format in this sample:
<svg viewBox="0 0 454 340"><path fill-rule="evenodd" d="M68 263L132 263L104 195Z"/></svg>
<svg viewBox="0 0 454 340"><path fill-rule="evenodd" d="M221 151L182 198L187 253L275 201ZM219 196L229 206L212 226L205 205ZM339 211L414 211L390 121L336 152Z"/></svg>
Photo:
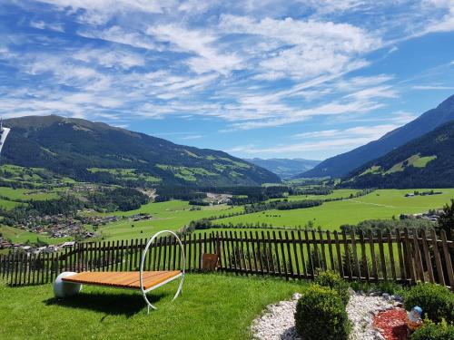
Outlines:
<svg viewBox="0 0 454 340"><path fill-rule="evenodd" d="M454 187L454 121L354 170L342 185L354 188Z"/></svg>

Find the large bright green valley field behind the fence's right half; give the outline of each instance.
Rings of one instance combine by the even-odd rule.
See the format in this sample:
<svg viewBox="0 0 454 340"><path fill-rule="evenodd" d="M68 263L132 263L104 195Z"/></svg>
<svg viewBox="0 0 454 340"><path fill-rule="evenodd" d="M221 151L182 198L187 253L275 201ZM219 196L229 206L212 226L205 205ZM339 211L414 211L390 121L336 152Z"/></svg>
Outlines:
<svg viewBox="0 0 454 340"><path fill-rule="evenodd" d="M427 191L428 189L419 189ZM355 199L326 202L323 205L293 210L266 210L253 214L217 219L217 223L267 223L274 227L304 226L312 221L315 227L336 230L343 224L357 224L364 219L399 218L401 213L419 213L429 209L442 208L449 199L454 198L454 189L437 189L441 195L416 196L404 195L413 189L380 189Z"/></svg>

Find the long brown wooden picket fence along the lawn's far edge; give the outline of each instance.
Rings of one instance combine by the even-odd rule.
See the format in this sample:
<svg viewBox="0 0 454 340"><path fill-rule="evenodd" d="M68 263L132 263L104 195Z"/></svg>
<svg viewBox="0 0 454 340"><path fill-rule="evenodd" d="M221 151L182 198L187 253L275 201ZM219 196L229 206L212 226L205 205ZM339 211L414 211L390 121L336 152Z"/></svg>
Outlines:
<svg viewBox="0 0 454 340"><path fill-rule="evenodd" d="M446 233L383 230L372 234L337 231L205 232L184 236L186 271L207 270L214 254L217 271L242 276L286 279L317 276L331 269L350 280L400 283L436 282L454 287L453 241ZM146 239L78 243L56 253L15 252L0 257L0 277L10 286L52 282L63 271L138 270ZM208 256L213 258L212 255ZM181 268L181 248L173 237L157 238L146 258L146 270Z"/></svg>

